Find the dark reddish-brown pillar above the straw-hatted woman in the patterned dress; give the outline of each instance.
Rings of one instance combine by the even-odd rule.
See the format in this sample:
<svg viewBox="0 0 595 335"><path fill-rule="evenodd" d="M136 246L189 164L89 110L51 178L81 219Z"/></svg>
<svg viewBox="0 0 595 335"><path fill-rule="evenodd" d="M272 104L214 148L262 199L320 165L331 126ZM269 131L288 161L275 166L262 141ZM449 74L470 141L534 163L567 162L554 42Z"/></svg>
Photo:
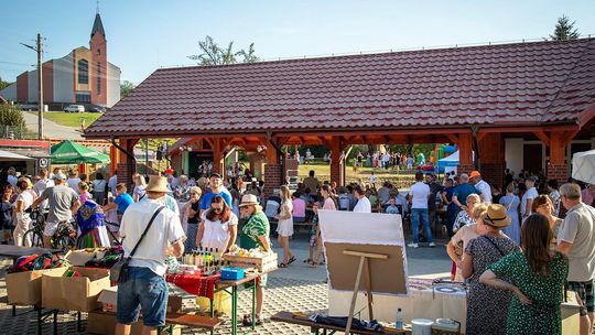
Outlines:
<svg viewBox="0 0 595 335"><path fill-rule="evenodd" d="M482 133L479 140L479 154L482 159L482 177L490 185L504 184L504 142L498 132Z"/></svg>

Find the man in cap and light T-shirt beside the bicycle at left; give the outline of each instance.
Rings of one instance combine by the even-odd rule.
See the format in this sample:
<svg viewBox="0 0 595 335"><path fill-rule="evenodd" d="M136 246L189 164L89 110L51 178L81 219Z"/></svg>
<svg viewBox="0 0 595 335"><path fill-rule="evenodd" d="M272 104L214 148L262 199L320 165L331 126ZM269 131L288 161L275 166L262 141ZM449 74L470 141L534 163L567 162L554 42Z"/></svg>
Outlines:
<svg viewBox="0 0 595 335"><path fill-rule="evenodd" d="M43 229L43 245L45 248L50 248L52 236L56 231L58 223L69 221L76 214L76 210L78 210L78 207L80 207L78 195L65 182L66 175L64 173L60 172L55 174L55 185L45 188L40 197L31 205L31 208L35 208L47 199L50 213Z"/></svg>

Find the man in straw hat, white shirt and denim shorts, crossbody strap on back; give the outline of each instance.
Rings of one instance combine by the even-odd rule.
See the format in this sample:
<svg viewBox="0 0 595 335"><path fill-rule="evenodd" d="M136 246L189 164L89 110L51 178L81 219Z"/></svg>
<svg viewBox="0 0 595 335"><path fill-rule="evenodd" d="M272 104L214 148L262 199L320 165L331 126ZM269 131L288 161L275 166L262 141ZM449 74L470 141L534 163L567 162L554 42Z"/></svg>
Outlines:
<svg viewBox="0 0 595 335"><path fill-rule="evenodd" d="M128 279L118 284L118 311L116 334L130 334L130 324L137 322L142 311L142 334L156 334L165 325L167 283L165 259L184 253L184 229L180 215L163 206L163 197L170 190L167 180L152 175L147 185L147 201L128 206L120 225L125 257L137 246L151 217L156 216L140 241L130 261ZM158 213L159 210L159 213Z"/></svg>

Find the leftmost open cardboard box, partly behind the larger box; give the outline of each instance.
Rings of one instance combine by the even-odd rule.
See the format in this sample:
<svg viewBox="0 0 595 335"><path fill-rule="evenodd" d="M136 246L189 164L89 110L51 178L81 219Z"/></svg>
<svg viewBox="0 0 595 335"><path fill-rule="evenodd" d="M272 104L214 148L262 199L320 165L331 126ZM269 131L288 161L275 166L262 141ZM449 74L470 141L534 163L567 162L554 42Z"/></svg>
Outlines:
<svg viewBox="0 0 595 335"><path fill-rule="evenodd" d="M7 273L8 301L11 305L34 306L42 302L42 275L61 268Z"/></svg>

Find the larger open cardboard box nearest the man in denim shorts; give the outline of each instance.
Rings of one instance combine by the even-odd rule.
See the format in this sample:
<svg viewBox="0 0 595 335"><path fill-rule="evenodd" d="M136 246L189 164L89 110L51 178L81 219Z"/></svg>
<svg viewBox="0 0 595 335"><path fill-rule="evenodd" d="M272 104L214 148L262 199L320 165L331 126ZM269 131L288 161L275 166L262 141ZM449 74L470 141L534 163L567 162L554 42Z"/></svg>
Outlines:
<svg viewBox="0 0 595 335"><path fill-rule="evenodd" d="M110 287L109 270L77 267L55 270L42 277L42 306L80 312L100 307L97 298ZM79 272L80 277L64 277L68 270Z"/></svg>

